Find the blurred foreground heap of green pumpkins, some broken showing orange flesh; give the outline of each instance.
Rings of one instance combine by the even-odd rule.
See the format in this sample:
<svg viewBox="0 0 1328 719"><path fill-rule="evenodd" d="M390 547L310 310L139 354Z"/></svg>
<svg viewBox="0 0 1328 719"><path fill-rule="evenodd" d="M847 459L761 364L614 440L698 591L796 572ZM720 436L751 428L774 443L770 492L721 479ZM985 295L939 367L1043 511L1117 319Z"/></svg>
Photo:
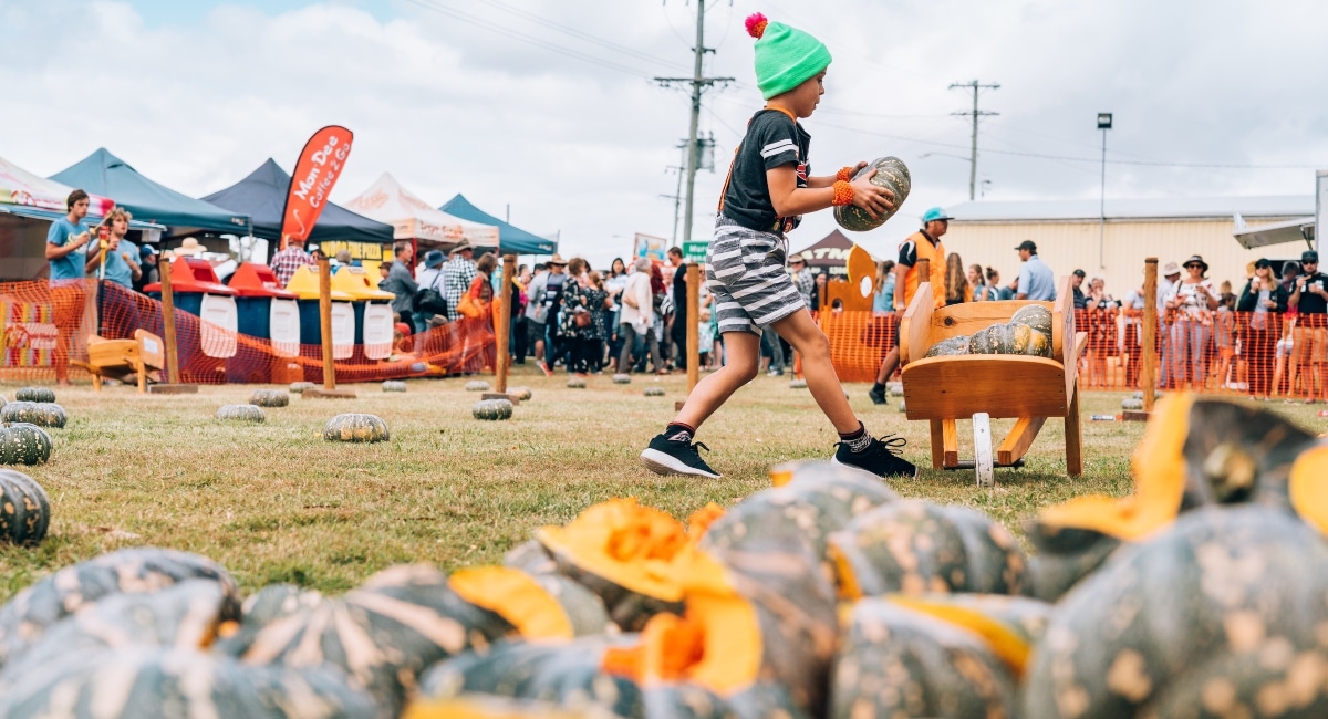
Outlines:
<svg viewBox="0 0 1328 719"><path fill-rule="evenodd" d="M127 549L0 608L0 715L1328 716L1328 446L1178 395L1135 493L1028 528L829 463L687 524L633 500L503 566L337 598Z"/></svg>

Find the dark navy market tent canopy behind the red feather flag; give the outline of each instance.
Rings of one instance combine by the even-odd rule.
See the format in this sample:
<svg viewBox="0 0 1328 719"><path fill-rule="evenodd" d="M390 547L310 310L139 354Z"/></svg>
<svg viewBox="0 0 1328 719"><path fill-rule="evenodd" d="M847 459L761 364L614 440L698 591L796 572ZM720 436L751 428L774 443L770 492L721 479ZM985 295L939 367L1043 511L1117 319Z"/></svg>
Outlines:
<svg viewBox="0 0 1328 719"><path fill-rule="evenodd" d="M287 175L276 161L268 158L247 178L203 199L247 214L254 223L255 237L276 241L282 237L282 214L286 211L286 196L290 190L291 175ZM309 232L309 240L392 244L392 226L328 203Z"/></svg>

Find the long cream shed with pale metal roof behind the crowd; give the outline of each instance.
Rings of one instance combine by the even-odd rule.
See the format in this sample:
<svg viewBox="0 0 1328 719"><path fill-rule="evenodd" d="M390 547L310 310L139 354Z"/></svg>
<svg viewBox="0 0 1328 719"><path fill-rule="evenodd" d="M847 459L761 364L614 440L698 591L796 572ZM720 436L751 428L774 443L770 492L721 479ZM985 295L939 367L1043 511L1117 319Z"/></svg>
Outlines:
<svg viewBox="0 0 1328 719"><path fill-rule="evenodd" d="M1315 196L1108 199L1105 224L1100 207L1098 200L968 202L947 208L954 219L943 241L965 267L996 268L1001 285L1019 275L1015 245L1033 240L1057 277L1076 268L1089 277L1101 275L1106 291L1118 300L1142 284L1145 257L1165 265L1203 255L1208 277L1214 283L1231 280L1239 292L1248 263L1264 256L1299 259L1309 245L1244 249L1232 236L1235 216L1251 228L1312 222Z"/></svg>

